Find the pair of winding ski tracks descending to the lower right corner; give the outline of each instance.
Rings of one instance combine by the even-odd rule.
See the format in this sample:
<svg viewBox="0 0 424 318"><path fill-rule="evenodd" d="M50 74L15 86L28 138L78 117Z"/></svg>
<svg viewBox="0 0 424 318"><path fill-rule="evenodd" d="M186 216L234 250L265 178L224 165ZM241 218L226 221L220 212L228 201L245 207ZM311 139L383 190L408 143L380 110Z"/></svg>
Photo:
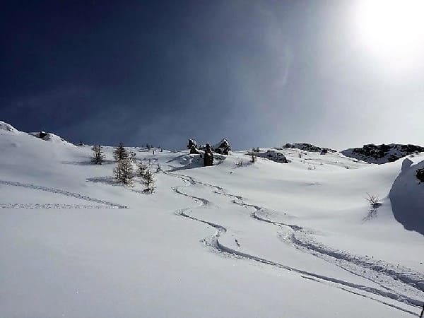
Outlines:
<svg viewBox="0 0 424 318"><path fill-rule="evenodd" d="M251 214L251 216L253 218L255 218L255 219L257 219L261 222L270 223L272 225L277 225L279 227L288 227L291 230L293 230L293 233L290 235L290 242L292 242L295 247L297 247L299 249L303 249L307 252L310 252L315 257L320 257L320 258L322 258L326 261L329 261L332 264L339 266L339 267L341 267L341 269L344 269L344 270L346 270L350 273L353 273L355 275L366 278L366 279L372 281L373 283L377 283L379 286L384 288L384 290L380 290L378 288L372 288L372 287L365 286L365 285L350 283L348 281L343 281L343 280L338 279L338 278L323 276L323 275L320 275L319 273L312 273L312 272L309 272L309 271L303 271L302 269L296 269L296 268L293 268L293 267L290 267L290 266L286 266L286 265L278 263L276 261L263 259L261 257L257 257L257 256L254 256L254 255L251 255L251 254L247 254L247 253L244 253L244 252L237 251L235 249L231 249L230 247L226 247L225 245L220 243L219 240L218 240L220 235L223 235L225 232L227 232L227 229L225 227L223 227L223 225L211 223L209 221L201 220L200 218L195 218L194 216L190 216L187 213L188 213L188 211L192 211L192 208L183 208L183 209L177 210L175 213L179 216L183 216L184 218L189 218L191 220L196 220L197 222L204 223L206 225L210 225L211 227L216 229L216 232L213 233L213 235L211 237L209 237L208 239L201 240L201 242L203 242L205 245L208 245L210 247L217 249L220 252L225 252L225 253L233 255L235 257L240 257L242 259L250 259L252 261L257 261L257 262L262 263L262 264L267 264L267 265L271 265L271 266L274 266L274 267L277 267L277 268L280 268L280 269L285 269L285 270L288 270L288 271L300 273L303 278L312 279L312 280L317 281L319 283L331 283L331 285L334 285L336 288L339 288L341 290L345 290L348 293L360 295L361 297L369 298L371 300L381 302L382 304L388 305L388 306L393 307L397 310L408 312L409 314L413 314L414 316L419 316L418 314L416 314L416 312L412 312L410 310L406 310L403 307L399 307L399 306L396 306L396 305L391 304L389 302L385 302L383 300L373 298L370 295L364 295L363 293L360 293L360 291L371 293L371 294L377 295L379 297L388 298L390 300L396 300L396 301L399 301L399 302L403 302L403 303L406 303L407 305L411 305L413 307L423 306L424 305L423 301L415 299L415 298L411 298L411 297L409 297L407 295L403 295L401 293L398 293L395 290L393 290L392 288L386 287L385 285L383 285L383 283L377 282L377 281L375 281L375 279L372 279L369 276L365 276L365 275L361 275L359 273L355 273L355 271L353 269L346 269L341 264L338 264L338 261L343 261L344 263L359 266L361 269L363 269L363 267L366 267L368 269L368 268L374 266L374 268L370 269L370 270L377 271L377 273L379 273L380 275L388 276L387 281L385 281L386 283L392 283L392 282L388 282L390 280L391 281L399 281L399 283L401 284L401 287L403 287L404 290L409 290L409 291L411 291L411 286L414 290L418 290L418 292L423 291L423 285L422 285L423 281L418 281L418 279L420 279L419 275L417 276L417 278L411 278L410 276L406 276L404 273L399 273L399 272L394 271L393 269L388 269L387 267L384 267L385 264L379 264L379 266L375 266L375 264L373 264L370 261L368 261L368 262L363 261L362 257L351 256L350 254L347 254L347 253L344 253L344 252L336 252L336 251L331 250L331 249L326 248L326 247L318 248L317 245L312 245L312 243L306 244L306 243L302 242L301 240L297 239L296 236L295 236L296 232L302 232L303 231L302 227L300 227L298 225L278 223L278 222L274 222L272 220L267 220L265 218L261 218L260 216L257 216L258 211L266 211L266 208L263 208L261 206L255 206L253 204L245 204L243 202L242 196L235 195L235 194L228 194L228 193L226 193L225 189L223 189L222 187L218 187L218 186L213 185L213 184L207 184L207 183L204 183L204 182L200 182L200 181L198 181L198 180L196 180L193 177L190 177L188 175L180 175L180 174L177 174L175 172L167 172L167 171L163 171L163 172L167 175L172 175L174 177L182 179L184 182L188 183L191 186L201 184L201 185L204 185L206 187L211 187L213 189L213 193L215 193L215 194L234 198L234 199L231 200L233 204L244 206L245 208L254 208L254 212ZM192 195L189 195L189 194L185 194L184 192L181 191L181 188L184 188L184 187L187 187L187 185L183 185L183 186L179 186L179 187L173 187L172 190L179 195L187 196L187 197L194 199L195 201L199 201L200 202L199 208L204 208L206 206L211 205L211 201L208 201L207 199L200 198L200 197L197 197L197 196L192 196ZM323 255L326 256L326 257L323 257ZM347 255L350 255L350 257L347 257ZM411 271L411 273L412 273L412 271ZM414 294L416 294L416 293L414 293ZM418 293L418 294L420 294L420 293Z"/></svg>

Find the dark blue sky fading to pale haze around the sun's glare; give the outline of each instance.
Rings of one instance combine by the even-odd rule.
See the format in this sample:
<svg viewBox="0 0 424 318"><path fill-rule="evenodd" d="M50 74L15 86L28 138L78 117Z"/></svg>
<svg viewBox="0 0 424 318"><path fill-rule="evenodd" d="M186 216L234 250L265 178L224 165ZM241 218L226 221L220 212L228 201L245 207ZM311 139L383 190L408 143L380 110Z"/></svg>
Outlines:
<svg viewBox="0 0 424 318"><path fill-rule="evenodd" d="M423 143L423 64L369 54L353 2L9 1L0 120L110 145Z"/></svg>

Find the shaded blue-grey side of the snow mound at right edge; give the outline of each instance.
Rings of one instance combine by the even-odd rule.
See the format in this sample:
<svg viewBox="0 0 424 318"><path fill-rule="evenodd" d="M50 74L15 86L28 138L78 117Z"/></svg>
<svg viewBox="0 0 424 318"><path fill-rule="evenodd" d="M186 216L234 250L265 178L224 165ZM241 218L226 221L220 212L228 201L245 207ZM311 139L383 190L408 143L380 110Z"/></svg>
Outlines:
<svg viewBox="0 0 424 318"><path fill-rule="evenodd" d="M416 165L405 159L402 170L391 187L389 197L394 218L404 225L424 235L424 184L417 178L417 170L424 168L424 160Z"/></svg>

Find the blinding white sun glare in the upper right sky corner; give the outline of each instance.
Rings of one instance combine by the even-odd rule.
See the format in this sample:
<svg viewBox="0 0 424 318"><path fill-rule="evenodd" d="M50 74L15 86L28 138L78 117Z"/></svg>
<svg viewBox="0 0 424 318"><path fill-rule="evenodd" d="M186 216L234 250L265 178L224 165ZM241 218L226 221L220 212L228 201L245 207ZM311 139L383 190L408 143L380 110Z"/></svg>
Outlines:
<svg viewBox="0 0 424 318"><path fill-rule="evenodd" d="M424 0L363 0L355 9L359 42L394 64L424 59Z"/></svg>

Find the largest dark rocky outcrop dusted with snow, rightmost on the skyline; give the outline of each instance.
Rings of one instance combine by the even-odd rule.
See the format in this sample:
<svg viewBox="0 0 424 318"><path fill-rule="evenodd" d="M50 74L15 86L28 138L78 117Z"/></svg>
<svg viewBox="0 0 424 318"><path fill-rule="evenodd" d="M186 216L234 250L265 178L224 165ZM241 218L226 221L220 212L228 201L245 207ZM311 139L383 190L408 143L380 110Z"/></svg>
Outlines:
<svg viewBox="0 0 424 318"><path fill-rule="evenodd" d="M416 145L402 145L398 143L390 143L389 145L375 145L373 143L364 145L361 148L349 148L341 151L346 157L355 158L366 161L367 163L391 163L406 155L412 153L420 153L424 151L424 147Z"/></svg>

